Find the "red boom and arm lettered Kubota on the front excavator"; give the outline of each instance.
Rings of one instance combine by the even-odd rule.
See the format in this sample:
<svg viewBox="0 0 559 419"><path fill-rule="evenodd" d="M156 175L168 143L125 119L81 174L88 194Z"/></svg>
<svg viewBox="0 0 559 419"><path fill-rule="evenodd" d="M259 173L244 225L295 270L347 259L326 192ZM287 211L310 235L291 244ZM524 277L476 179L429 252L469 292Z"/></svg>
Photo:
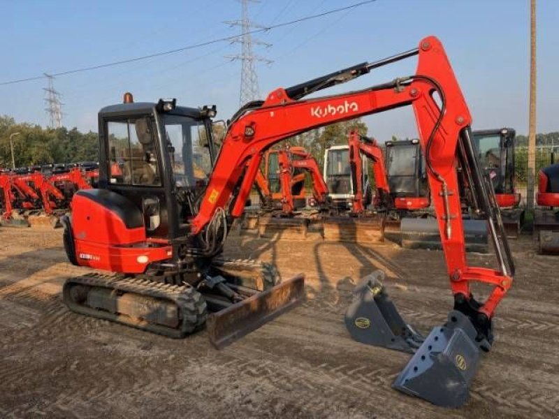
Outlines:
<svg viewBox="0 0 559 419"><path fill-rule="evenodd" d="M200 210L191 220L192 233L201 233L218 208L224 208L229 203L232 216L242 214L263 152L268 147L284 138L314 128L411 105L421 147L428 162L430 190L455 307L462 310L477 331L491 341L491 317L512 284L514 266L511 266L510 257L509 267L504 260L504 253L507 256L510 253L508 249L503 249L507 243L506 240L503 243L498 237L497 222L493 217L489 217L488 222L497 247L500 270L471 267L466 261L456 162L458 143L470 139L465 148L472 146L472 117L442 43L433 36L424 38L415 50L363 64L361 67L356 66L342 75L335 73L332 76L335 80L312 80L306 92L312 93L321 86L329 87L336 84L336 80L347 81L368 73L372 68L413 55L419 56L414 75L359 91L308 100L292 98L300 96L300 87L279 88L268 94L263 103L238 112L228 127L222 152L215 163ZM479 167L476 166L473 151L468 156L471 156L470 164L474 166L474 172L479 175L479 194L484 196L488 214L491 214L489 192ZM236 196L233 196L236 185L240 186ZM498 218L498 214L495 218ZM486 302L478 303L473 300L470 292L472 281L493 286Z"/></svg>

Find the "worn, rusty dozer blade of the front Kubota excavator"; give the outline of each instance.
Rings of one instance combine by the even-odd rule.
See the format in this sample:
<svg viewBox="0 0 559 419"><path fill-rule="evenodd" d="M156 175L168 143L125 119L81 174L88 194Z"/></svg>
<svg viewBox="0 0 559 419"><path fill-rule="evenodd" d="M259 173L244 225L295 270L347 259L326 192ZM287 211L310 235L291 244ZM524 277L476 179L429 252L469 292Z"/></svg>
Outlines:
<svg viewBox="0 0 559 419"><path fill-rule="evenodd" d="M284 281L261 293L254 293L208 316L206 327L212 344L221 349L273 320L305 296L305 275Z"/></svg>

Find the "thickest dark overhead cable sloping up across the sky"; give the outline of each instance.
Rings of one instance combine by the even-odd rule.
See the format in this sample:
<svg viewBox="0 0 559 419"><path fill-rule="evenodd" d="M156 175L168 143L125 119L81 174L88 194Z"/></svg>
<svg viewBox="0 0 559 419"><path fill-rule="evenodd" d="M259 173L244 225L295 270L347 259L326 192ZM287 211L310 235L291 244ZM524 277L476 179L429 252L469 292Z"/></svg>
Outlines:
<svg viewBox="0 0 559 419"><path fill-rule="evenodd" d="M289 22L282 22L282 23L278 23L278 24L271 24L269 26L259 27L257 29L252 29L251 31L247 31L245 33L238 34L238 35L232 35L232 36L226 36L224 38L212 39L210 41L205 41L205 42L202 42L202 43L197 43L197 44L187 45L187 46L180 47L180 48L175 48L174 50L168 50L168 51L163 51L163 52L155 52L154 54L143 55L142 57L122 59L122 60L119 60L119 61L112 61L110 63L98 64L98 65L89 66L89 67L74 68L73 70L61 71L59 73L51 73L50 75L52 75L53 77L59 77L61 75L70 75L70 74L75 74L75 73L82 73L84 71L99 70L101 68L119 66L119 65L122 65L122 64L133 63L133 62L136 62L136 61L142 61L142 60L150 59L150 58L154 58L154 57L161 57L161 56L164 56L164 55L176 54L177 52L194 50L195 48L205 47L207 45L212 45L212 44L215 44L215 43L231 42L231 41L235 41L238 38L241 38L242 36L248 35L248 34L249 35L259 34L261 32L267 32L267 31L270 31L272 29L291 26L293 24L298 24L300 22L305 22L307 20L318 19L319 17L323 17L323 16L326 16L326 15L332 15L333 13L340 13L340 12L343 12L344 10L349 10L349 9L352 9L352 8L357 8L359 6L364 6L365 4L374 3L375 1L377 1L377 0L360 1L359 3L354 3L354 4L351 4L349 6L345 6L345 7L341 7L341 8L335 8L335 9L332 9L332 10L327 10L326 12L317 13L316 15L300 17L300 18L295 19L295 20L290 20ZM43 79L43 78L45 78L45 75L36 75L34 77L22 78L22 79L19 79L19 80L9 80L9 81L6 81L6 82L0 82L0 86L5 86L6 84L16 84L16 83L30 82L30 81L33 81L33 80L40 80L40 79Z"/></svg>

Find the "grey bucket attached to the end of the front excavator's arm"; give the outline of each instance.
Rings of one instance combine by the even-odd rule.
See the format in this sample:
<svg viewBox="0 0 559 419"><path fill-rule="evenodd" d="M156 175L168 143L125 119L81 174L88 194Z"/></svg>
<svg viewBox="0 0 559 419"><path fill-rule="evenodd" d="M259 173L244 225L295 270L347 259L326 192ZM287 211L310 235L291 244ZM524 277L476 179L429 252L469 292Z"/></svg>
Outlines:
<svg viewBox="0 0 559 419"><path fill-rule="evenodd" d="M392 387L444 407L462 406L479 365L477 332L460 311L434 328Z"/></svg>

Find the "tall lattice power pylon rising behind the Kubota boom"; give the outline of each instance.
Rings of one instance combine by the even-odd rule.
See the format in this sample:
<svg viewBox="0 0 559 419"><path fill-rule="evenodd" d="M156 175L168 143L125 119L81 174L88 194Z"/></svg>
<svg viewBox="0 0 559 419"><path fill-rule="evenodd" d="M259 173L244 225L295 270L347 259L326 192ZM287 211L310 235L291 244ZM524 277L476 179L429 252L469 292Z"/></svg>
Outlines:
<svg viewBox="0 0 559 419"><path fill-rule="evenodd" d="M269 59L254 54L254 52L252 51L253 45L263 45L265 47L272 46L272 44L262 42L253 38L252 34L250 34L251 29L266 29L266 27L263 27L262 25L256 24L249 20L249 3L259 2L259 0L240 0L242 6L241 19L228 20L224 22L226 24L229 24L231 27L240 27L241 36L239 38L236 38L233 42L241 44L241 53L226 56L226 58L228 59L241 61L239 106L245 105L245 103L247 102L260 99L260 89L258 85L258 75L256 74L255 64L257 62L272 64L273 62Z"/></svg>

